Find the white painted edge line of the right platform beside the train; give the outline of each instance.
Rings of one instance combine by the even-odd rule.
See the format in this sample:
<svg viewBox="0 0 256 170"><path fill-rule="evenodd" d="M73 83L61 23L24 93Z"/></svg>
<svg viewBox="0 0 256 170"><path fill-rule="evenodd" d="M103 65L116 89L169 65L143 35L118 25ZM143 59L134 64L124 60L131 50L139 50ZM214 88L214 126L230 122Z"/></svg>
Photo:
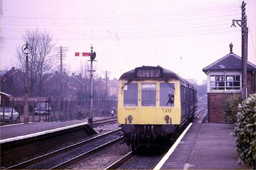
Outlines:
<svg viewBox="0 0 256 170"><path fill-rule="evenodd" d="M178 146L178 144L180 143L181 139L184 137L184 135L186 134L186 132L189 130L189 128L191 127L193 123L189 123L188 127L184 130L184 132L182 132L182 134L180 135L180 137L177 139L177 141L173 144L173 146L170 148L170 150L164 155L164 157L162 158L162 160L156 165L156 167L154 167L155 170L161 169L161 167L163 166L163 164L166 162L166 160L170 157L170 155L173 153L173 151L175 150L175 148Z"/></svg>

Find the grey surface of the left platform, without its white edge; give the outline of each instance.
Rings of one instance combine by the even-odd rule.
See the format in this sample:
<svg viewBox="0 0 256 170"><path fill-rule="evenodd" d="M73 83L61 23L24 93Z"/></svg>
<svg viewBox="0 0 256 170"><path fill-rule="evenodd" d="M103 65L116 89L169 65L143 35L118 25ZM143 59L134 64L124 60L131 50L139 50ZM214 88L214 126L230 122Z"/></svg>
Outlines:
<svg viewBox="0 0 256 170"><path fill-rule="evenodd" d="M11 137L19 137L22 135L35 134L37 132L44 132L46 130L53 130L56 128L76 125L78 123L86 122L87 120L74 121L46 121L46 122L31 122L28 124L20 123L13 125L4 125L0 127L0 140L9 139Z"/></svg>

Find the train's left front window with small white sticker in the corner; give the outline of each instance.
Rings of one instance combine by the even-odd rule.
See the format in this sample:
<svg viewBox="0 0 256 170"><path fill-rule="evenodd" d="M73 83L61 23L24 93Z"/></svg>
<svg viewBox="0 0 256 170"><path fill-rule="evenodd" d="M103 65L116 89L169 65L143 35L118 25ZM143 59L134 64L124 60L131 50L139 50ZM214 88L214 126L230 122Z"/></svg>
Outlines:
<svg viewBox="0 0 256 170"><path fill-rule="evenodd" d="M131 82L124 84L124 106L138 105L138 83Z"/></svg>

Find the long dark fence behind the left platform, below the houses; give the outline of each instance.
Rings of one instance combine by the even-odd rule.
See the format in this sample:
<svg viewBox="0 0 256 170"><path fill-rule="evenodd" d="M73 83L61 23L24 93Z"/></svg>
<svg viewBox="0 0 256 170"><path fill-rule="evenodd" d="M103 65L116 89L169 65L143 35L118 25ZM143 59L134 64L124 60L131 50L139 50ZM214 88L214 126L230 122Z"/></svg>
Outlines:
<svg viewBox="0 0 256 170"><path fill-rule="evenodd" d="M90 100L46 100L45 102L29 101L29 121L67 121L88 118ZM19 112L19 122L23 122L24 100L12 100L10 107ZM116 114L117 100L93 100L93 117Z"/></svg>

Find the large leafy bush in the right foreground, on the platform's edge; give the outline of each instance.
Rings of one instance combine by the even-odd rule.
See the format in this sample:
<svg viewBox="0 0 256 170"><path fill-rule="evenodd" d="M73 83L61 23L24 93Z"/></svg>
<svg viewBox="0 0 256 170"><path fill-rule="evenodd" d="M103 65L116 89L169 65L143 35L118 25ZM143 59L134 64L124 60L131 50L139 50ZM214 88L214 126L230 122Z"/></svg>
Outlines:
<svg viewBox="0 0 256 170"><path fill-rule="evenodd" d="M239 104L234 136L239 162L256 169L256 93Z"/></svg>

